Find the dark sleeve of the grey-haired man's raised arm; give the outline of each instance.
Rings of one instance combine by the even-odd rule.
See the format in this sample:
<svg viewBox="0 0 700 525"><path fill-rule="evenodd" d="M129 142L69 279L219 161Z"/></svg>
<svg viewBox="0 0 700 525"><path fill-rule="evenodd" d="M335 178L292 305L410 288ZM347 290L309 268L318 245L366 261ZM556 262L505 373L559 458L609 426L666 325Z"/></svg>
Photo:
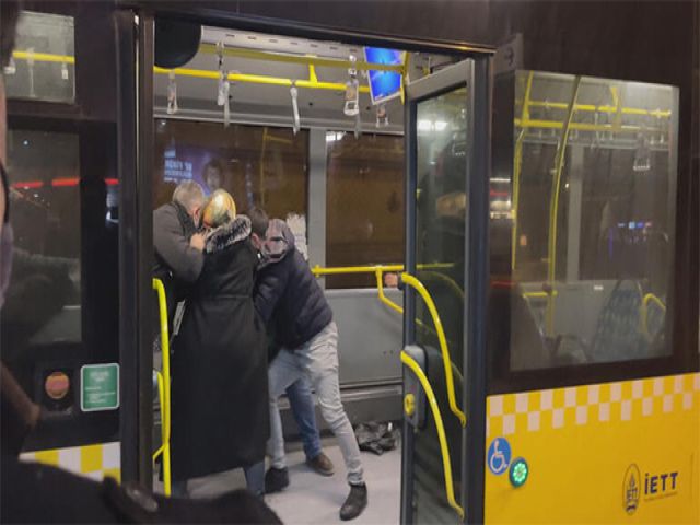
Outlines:
<svg viewBox="0 0 700 525"><path fill-rule="evenodd" d="M205 255L189 245L177 212L171 207L161 207L153 212L153 247L175 278L185 282L199 279Z"/></svg>

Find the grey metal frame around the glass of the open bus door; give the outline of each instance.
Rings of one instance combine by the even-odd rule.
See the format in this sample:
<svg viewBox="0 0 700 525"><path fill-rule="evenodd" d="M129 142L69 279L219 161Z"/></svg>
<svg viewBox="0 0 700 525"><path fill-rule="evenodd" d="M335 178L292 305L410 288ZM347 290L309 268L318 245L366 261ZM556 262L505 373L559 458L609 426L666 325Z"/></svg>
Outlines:
<svg viewBox="0 0 700 525"><path fill-rule="evenodd" d="M486 319L489 279L489 178L491 148L490 57L467 58L406 89L406 268L416 272L417 107L459 86L467 88L467 166L465 212L465 305L463 399L467 425L462 432L462 490L459 500L468 523L483 522L486 455ZM404 298L404 346L416 340L416 294L408 287ZM410 371L404 370L404 378ZM401 523L413 523L412 427L404 421L401 451Z"/></svg>

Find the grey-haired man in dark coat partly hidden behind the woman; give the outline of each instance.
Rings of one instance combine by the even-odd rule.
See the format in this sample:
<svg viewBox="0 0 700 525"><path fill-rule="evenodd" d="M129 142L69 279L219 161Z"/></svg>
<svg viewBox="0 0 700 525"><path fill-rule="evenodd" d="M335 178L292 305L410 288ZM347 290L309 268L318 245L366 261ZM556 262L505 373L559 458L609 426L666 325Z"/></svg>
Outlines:
<svg viewBox="0 0 700 525"><path fill-rule="evenodd" d="M153 277L163 281L171 325L175 307L201 273L205 236L197 233L205 192L197 183L180 183L173 200L153 212ZM155 323L154 326L159 326Z"/></svg>

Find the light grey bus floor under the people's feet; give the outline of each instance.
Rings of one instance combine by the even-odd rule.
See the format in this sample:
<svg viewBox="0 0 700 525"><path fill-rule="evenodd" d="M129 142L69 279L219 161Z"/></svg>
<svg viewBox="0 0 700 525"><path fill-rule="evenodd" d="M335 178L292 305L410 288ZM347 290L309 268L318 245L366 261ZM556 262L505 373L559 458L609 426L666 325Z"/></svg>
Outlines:
<svg viewBox="0 0 700 525"><path fill-rule="evenodd" d="M340 448L332 438L324 439L324 452L336 466L332 477L314 472L305 464L304 453L299 443L288 443L287 460L290 485L282 492L265 497L265 501L283 523L329 524L341 523L338 517L340 505L348 495L346 468ZM399 522L401 451L385 452L381 456L362 453L364 478L368 483L369 503L365 511L353 524L394 524ZM160 483L159 483L160 485ZM240 469L221 472L206 478L192 479L188 483L192 498L211 498L229 490L245 488L245 479ZM162 486L156 487L162 490Z"/></svg>

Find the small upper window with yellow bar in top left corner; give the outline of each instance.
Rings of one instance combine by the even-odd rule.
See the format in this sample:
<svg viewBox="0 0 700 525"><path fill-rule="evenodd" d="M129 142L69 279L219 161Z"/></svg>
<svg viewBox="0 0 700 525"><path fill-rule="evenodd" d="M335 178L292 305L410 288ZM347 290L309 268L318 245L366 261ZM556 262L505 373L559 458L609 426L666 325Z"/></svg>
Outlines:
<svg viewBox="0 0 700 525"><path fill-rule="evenodd" d="M23 11L18 24L15 50L4 70L4 80L11 98L73 102L73 19Z"/></svg>

